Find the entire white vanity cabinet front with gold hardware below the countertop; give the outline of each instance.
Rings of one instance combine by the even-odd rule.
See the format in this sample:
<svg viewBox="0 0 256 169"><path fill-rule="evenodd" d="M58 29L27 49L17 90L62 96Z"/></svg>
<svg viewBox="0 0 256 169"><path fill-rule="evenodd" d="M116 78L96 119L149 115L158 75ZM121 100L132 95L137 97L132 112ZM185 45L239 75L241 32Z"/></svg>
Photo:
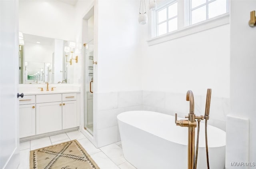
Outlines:
<svg viewBox="0 0 256 169"><path fill-rule="evenodd" d="M76 93L20 98L20 138L78 127Z"/></svg>

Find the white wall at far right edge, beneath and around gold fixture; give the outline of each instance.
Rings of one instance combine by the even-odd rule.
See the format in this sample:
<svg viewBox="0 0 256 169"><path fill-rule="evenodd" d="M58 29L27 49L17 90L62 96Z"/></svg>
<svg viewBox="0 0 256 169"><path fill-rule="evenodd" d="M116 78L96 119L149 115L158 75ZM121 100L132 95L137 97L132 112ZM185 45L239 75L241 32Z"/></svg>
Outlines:
<svg viewBox="0 0 256 169"><path fill-rule="evenodd" d="M256 162L256 28L250 28L255 0L230 1L230 103L226 168L230 162ZM255 168L240 167L240 168Z"/></svg>

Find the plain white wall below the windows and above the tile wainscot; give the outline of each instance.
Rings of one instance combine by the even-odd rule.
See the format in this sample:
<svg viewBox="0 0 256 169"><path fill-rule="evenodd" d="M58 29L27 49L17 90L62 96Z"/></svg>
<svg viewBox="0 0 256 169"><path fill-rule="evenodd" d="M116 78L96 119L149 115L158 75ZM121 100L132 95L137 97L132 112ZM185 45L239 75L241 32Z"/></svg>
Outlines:
<svg viewBox="0 0 256 169"><path fill-rule="evenodd" d="M230 26L224 25L143 48L144 90L230 95ZM145 40L147 37L145 38Z"/></svg>

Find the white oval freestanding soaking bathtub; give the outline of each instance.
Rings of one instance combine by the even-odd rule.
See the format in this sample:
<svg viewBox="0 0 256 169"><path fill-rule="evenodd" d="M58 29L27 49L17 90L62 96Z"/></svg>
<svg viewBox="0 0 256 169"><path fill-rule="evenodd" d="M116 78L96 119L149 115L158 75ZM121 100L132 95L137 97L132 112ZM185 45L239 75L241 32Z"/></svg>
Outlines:
<svg viewBox="0 0 256 169"><path fill-rule="evenodd" d="M188 128L176 126L174 116L153 111L127 111L120 113L117 119L124 157L136 168L188 168ZM210 169L224 169L226 132L211 125L207 132ZM202 122L197 169L207 169Z"/></svg>

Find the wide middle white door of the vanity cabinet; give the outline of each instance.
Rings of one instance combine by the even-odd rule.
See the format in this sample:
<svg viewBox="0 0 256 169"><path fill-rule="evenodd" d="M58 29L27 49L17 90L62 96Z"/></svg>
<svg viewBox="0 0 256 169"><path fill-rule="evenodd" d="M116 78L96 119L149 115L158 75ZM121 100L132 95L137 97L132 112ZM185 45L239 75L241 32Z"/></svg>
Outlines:
<svg viewBox="0 0 256 169"><path fill-rule="evenodd" d="M36 104L36 134L62 129L62 102Z"/></svg>

